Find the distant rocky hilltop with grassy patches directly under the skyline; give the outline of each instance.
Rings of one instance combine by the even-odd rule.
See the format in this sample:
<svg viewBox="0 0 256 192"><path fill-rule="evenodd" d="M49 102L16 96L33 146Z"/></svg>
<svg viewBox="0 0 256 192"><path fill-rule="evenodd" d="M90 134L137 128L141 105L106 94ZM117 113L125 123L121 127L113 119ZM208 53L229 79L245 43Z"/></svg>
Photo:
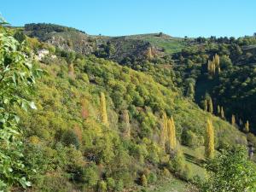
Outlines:
<svg viewBox="0 0 256 192"><path fill-rule="evenodd" d="M60 49L84 55L94 53L118 62L125 62L128 58L133 61L162 57L180 51L188 42L161 32L121 37L92 36L71 27L53 24L26 24L24 32L31 38L54 44Z"/></svg>

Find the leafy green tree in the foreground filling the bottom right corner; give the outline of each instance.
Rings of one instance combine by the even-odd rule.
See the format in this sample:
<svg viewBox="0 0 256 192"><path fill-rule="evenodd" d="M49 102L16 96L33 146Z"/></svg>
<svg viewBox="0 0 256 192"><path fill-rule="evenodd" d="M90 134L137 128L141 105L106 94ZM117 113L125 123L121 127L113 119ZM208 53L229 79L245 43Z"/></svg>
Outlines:
<svg viewBox="0 0 256 192"><path fill-rule="evenodd" d="M207 164L207 179L201 191L241 192L256 191L256 166L247 160L243 147L223 150Z"/></svg>

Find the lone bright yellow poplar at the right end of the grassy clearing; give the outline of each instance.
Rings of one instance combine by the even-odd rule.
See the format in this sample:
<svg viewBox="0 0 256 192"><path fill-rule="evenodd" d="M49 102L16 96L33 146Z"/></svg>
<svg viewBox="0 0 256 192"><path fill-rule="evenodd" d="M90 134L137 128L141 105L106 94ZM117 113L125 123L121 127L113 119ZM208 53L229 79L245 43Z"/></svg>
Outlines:
<svg viewBox="0 0 256 192"><path fill-rule="evenodd" d="M207 119L207 131L205 138L205 155L207 158L212 159L214 157L214 130L212 121Z"/></svg>

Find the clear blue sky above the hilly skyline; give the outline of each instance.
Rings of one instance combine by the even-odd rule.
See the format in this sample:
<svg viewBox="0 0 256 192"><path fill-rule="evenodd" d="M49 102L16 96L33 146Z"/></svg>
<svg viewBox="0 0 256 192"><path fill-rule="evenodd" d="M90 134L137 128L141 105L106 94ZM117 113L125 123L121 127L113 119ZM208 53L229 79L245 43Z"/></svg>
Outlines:
<svg viewBox="0 0 256 192"><path fill-rule="evenodd" d="M256 0L3 0L0 13L13 26L46 22L94 35L241 37L256 32Z"/></svg>

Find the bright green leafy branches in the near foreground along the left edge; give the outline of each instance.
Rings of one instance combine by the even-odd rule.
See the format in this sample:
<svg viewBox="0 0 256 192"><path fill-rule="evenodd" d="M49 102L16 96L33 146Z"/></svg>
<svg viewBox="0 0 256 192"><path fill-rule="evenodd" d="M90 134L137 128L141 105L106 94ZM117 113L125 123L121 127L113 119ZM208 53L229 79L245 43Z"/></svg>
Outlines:
<svg viewBox="0 0 256 192"><path fill-rule="evenodd" d="M36 108L26 100L35 83L35 70L23 54L26 49L13 38L0 19L0 191L30 186L23 163L22 132L14 108Z"/></svg>

